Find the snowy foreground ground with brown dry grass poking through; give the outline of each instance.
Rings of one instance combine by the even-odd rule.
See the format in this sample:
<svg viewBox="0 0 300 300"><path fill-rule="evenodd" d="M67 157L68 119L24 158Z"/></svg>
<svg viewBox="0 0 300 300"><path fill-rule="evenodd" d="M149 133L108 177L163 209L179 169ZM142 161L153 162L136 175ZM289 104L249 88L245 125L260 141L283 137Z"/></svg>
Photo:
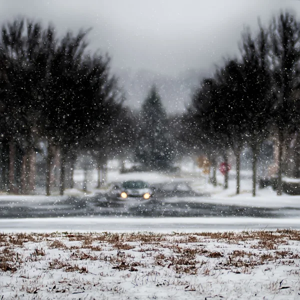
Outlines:
<svg viewBox="0 0 300 300"><path fill-rule="evenodd" d="M3 299L295 299L300 231L0 235Z"/></svg>

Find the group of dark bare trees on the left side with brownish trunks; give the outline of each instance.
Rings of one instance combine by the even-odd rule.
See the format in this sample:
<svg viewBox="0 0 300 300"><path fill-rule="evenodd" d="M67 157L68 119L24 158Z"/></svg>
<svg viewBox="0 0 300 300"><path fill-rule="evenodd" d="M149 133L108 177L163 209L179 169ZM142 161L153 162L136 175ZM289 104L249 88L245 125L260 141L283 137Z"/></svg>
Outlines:
<svg viewBox="0 0 300 300"><path fill-rule="evenodd" d="M114 148L125 143L112 139L119 120L126 123L127 111L110 58L86 50L88 30L62 37L55 32L26 19L1 27L0 189L10 193L34 190L37 153L46 161L46 194L54 160L63 194L66 181L73 187L78 153L92 150L100 168L108 140Z"/></svg>

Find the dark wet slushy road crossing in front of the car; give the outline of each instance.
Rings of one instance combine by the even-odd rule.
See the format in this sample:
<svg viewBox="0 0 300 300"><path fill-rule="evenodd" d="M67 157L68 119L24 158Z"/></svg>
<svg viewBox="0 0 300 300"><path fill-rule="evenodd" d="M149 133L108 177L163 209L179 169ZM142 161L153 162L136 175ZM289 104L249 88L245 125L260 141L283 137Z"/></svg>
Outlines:
<svg viewBox="0 0 300 300"><path fill-rule="evenodd" d="M28 217L298 217L299 208L264 208L201 202L201 197L108 200L103 194L30 200L0 200L0 218Z"/></svg>

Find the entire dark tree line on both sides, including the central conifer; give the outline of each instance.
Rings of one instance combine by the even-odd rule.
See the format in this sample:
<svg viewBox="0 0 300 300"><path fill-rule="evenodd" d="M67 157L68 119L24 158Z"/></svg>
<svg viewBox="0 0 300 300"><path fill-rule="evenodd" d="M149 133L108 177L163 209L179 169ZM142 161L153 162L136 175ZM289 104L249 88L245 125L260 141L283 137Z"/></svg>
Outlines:
<svg viewBox="0 0 300 300"><path fill-rule="evenodd" d="M0 35L0 189L30 193L36 155L44 158L45 193L51 193L59 164L59 193L73 187L76 157L88 154L100 174L107 158L134 157L149 169L167 169L176 155L204 152L216 184L217 158L252 151L252 194L257 158L269 138L278 147L277 193L282 192L283 157L299 129L300 23L280 12L268 27L246 28L239 55L225 59L199 82L183 116L167 116L153 86L140 114L123 103L124 92L111 74L109 56L87 51L89 30L58 37L51 25L18 19ZM294 159L294 175L299 175ZM284 158L284 159L283 159ZM225 186L228 177L225 176ZM98 176L99 187L101 185Z"/></svg>

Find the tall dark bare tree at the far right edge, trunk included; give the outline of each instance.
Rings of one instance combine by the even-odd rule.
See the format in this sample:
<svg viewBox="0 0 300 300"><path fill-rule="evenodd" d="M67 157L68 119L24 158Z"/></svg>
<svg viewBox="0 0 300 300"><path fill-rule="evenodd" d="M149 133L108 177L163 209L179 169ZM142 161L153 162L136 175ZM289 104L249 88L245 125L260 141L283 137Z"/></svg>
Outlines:
<svg viewBox="0 0 300 300"><path fill-rule="evenodd" d="M295 103L291 97L300 58L300 23L290 12L281 12L270 25L273 78L272 122L278 133L277 194L282 194L282 152L285 134L294 130Z"/></svg>

